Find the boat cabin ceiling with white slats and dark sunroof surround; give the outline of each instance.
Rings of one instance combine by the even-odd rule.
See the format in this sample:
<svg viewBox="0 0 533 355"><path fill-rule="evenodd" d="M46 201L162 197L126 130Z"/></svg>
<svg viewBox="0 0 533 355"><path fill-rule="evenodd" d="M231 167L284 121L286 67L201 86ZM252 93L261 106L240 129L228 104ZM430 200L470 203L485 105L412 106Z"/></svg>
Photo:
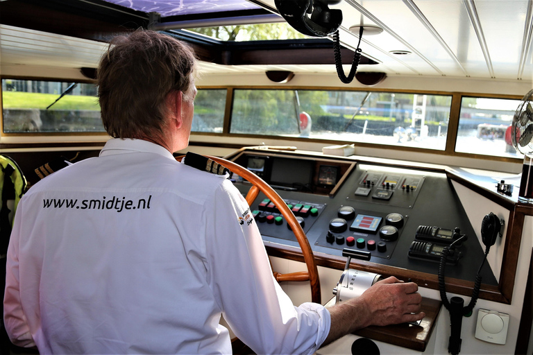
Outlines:
<svg viewBox="0 0 533 355"><path fill-rule="evenodd" d="M350 27L373 25L382 32L363 34L359 72L532 80L531 0L344 0L330 8L343 13L339 34L347 48L346 72L353 56L348 49L359 40ZM189 41L204 73L336 73L330 38L301 40L302 45L227 43L187 31L283 21L273 0L0 0L0 13L2 67L94 68L113 34L155 24Z"/></svg>

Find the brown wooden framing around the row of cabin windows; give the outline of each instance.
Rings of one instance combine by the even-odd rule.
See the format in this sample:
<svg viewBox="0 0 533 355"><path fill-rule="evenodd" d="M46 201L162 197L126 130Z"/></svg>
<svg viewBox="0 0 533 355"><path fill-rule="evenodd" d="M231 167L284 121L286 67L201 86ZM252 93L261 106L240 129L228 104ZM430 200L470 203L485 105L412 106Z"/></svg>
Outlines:
<svg viewBox="0 0 533 355"><path fill-rule="evenodd" d="M48 81L58 81L58 82L72 82L73 80L67 80L65 78L36 78L36 77L22 77L22 76L0 76L0 80L3 79L14 79L14 80L48 80ZM92 83L94 80L74 80L78 83ZM446 92L439 90L413 90L413 89L387 89L387 88L374 88L374 87L296 87L293 85L198 85L198 89L226 89L226 105L224 108L224 117L223 117L223 130L222 132L192 132L192 136L195 138L201 137L225 137L225 138L252 138L252 139L276 139L276 141L306 141L314 142L318 144L325 145L335 145L335 144L355 144L356 147L364 148L378 148L378 149L394 149L400 150L405 153L428 153L434 155L444 155L450 157L466 157L470 159L482 159L482 160L492 160L496 162L521 162L521 158L514 157L499 157L492 155L479 155L473 153L462 153L456 152L455 146L457 142L457 129L459 126L459 116L461 110L461 103L463 97L476 97L476 98L507 98L513 100L521 100L523 96L511 95L511 94L484 94L477 92ZM448 121L448 133L446 137L446 147L444 150L432 150L425 148L412 148L407 146L390 146L386 144L371 144L364 142L353 142L353 141L342 141L342 140L330 140L330 139L315 139L307 137L283 137L283 136L267 136L267 135L251 135L251 134L242 134L242 133L230 133L231 125L231 113L234 100L235 89L282 89L282 90L323 90L323 91L355 91L355 92L387 92L391 94L428 94L428 95L443 95L451 96L451 106L450 106L450 119ZM0 104L2 104L2 95L0 88ZM3 124L3 105L2 110L0 111L0 123ZM2 126L3 127L3 126ZM3 130L3 129L2 129ZM53 137L51 141L42 142L41 137ZM8 138L8 139L6 139ZM18 139L24 138L24 139ZM3 133L1 132L0 137L0 147L1 148L18 148L19 146L32 146L37 144L40 146L94 146L98 145L101 142L109 139L109 136L105 132L28 132L28 133ZM73 140L75 140L73 142ZM190 145L198 146L207 146L205 142L196 142L194 139L190 142ZM238 143L212 143L209 144L212 146L224 146L227 148L243 148L244 146L249 146L249 144L238 144Z"/></svg>

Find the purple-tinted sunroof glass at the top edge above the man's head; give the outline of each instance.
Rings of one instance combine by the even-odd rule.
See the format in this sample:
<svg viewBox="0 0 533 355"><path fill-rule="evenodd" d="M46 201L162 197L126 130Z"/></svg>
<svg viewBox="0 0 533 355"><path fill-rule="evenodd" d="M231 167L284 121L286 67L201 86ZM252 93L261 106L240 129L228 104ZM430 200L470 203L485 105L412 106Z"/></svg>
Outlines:
<svg viewBox="0 0 533 355"><path fill-rule="evenodd" d="M105 0L142 12L158 12L161 17L205 14L260 8L246 0Z"/></svg>

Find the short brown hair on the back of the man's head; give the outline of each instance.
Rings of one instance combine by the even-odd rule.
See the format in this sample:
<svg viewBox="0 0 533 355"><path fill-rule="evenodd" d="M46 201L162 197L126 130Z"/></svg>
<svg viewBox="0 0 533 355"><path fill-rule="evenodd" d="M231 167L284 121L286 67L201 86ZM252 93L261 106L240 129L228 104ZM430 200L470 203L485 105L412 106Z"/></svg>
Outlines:
<svg viewBox="0 0 533 355"><path fill-rule="evenodd" d="M97 73L108 134L136 138L162 133L167 94L188 94L195 65L192 49L169 35L137 30L115 37Z"/></svg>

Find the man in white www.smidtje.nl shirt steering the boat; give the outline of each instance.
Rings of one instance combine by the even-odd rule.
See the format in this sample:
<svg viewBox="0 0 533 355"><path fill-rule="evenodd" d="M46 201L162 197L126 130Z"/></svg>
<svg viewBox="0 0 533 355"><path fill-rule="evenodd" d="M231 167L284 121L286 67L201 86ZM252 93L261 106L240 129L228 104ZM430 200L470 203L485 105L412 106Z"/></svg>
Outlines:
<svg viewBox="0 0 533 355"><path fill-rule="evenodd" d="M135 31L101 59L113 137L99 157L44 178L19 203L8 250L6 329L42 354L312 354L370 324L423 318L391 277L325 309L294 306L273 279L246 200L227 175L176 162L194 110L192 51Z"/></svg>

